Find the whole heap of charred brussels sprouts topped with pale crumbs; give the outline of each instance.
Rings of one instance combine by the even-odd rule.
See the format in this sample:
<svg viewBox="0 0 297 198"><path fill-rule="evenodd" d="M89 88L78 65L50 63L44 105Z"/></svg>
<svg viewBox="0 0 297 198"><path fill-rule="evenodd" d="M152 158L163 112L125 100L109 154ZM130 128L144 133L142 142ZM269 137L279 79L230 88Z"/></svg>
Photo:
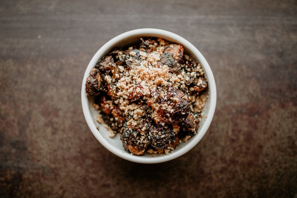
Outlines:
<svg viewBox="0 0 297 198"><path fill-rule="evenodd" d="M91 69L87 96L110 137L135 155L169 153L198 133L207 96L201 65L162 38L114 49Z"/></svg>

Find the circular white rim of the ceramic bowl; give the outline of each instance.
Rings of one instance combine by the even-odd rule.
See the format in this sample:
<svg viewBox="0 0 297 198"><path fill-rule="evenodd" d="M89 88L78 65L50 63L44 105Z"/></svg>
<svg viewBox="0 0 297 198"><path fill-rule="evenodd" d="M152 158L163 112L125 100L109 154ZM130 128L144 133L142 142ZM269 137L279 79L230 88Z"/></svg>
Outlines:
<svg viewBox="0 0 297 198"><path fill-rule="evenodd" d="M109 50L111 50L111 47L113 45L127 39L128 37L136 37L136 36L144 37L145 35L149 37L161 37L166 40L171 40L173 42L180 43L184 47L187 47L187 49L199 60L199 63L203 67L204 73L207 75L208 96L209 96L208 100L210 100L207 118L205 119L203 125L199 128L198 134L193 136L190 139L191 141L185 144L182 149L178 149L177 151L173 151L172 153L169 153L169 154L154 156L154 157L141 157L137 155L131 155L128 152L125 153L122 150L119 150L113 147L113 145L111 145L107 140L105 140L105 138L100 134L100 132L98 131L97 127L93 122L90 109L88 106L88 97L86 96L86 92L85 92L85 89L86 89L85 83L86 83L87 77L89 76L90 70L97 64L97 62L102 56L104 56ZM156 29L156 28L141 28L141 29L134 29L134 30L130 30L122 34L119 34L118 36L110 39L108 42L102 45L102 47L99 48L99 50L91 58L91 61L89 62L83 77L83 82L81 87L81 103L82 103L83 114L87 122L87 125L89 126L89 129L96 137L96 139L108 151L128 161L143 163L143 164L154 164L154 163L161 163L161 162L170 161L172 159L178 158L183 154L187 153L188 151L190 151L192 148L194 148L195 145L198 144L198 142L200 142L200 140L206 134L214 116L216 103L217 103L217 89L216 89L216 84L214 80L214 75L211 71L211 68L208 62L194 45L192 45L189 41L187 41L183 37L167 30Z"/></svg>

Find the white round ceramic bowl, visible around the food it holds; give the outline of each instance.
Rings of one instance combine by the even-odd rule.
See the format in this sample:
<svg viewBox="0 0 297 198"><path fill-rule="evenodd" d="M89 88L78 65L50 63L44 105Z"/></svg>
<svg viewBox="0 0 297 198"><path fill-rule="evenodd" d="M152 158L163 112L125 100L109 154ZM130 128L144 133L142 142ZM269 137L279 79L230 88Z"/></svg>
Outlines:
<svg viewBox="0 0 297 198"><path fill-rule="evenodd" d="M168 40L169 42L179 43L183 45L184 53L188 54L193 60L198 61L201 64L204 70L205 76L208 80L208 90L207 90L208 99L203 109L203 119L199 124L200 127L198 129L198 134L194 135L187 142L181 142L181 144L178 145L178 147L172 153L165 154L165 155L155 154L154 157L151 157L151 155L149 154L137 156L137 155L131 155L130 153L128 153L124 149L123 144L120 140L120 134L117 134L116 137L110 138L108 136L108 131L103 126L103 124L100 125L96 121L96 116L98 114L98 111L94 110L92 106L94 102L94 97L86 96L86 91L85 91L86 89L85 83L86 83L87 77L89 76L89 72L97 64L100 58L102 58L102 56L109 53L111 50L113 50L116 47L119 48L119 47L132 46L133 44L140 41L140 37L161 37L165 40ZM83 107L83 114L85 116L86 122L91 132L94 134L96 139L113 154L129 161L144 163L144 164L154 164L154 163L169 161L191 150L202 139L202 137L208 130L208 127L214 116L216 102L217 102L217 89L216 89L214 76L212 74L212 71L206 59L199 52L199 50L196 47L194 47L194 45L192 45L189 41L178 36L177 34L174 34L169 31L161 30L161 29L154 29L154 28L143 28L143 29L135 29L135 30L127 31L123 34L120 34L119 36L114 37L107 43L105 43L105 45L103 45L91 59L86 69L86 72L83 76L83 82L81 87L81 103ZM207 117L207 118L204 119L204 117ZM97 129L97 126L99 126L100 128L99 130Z"/></svg>

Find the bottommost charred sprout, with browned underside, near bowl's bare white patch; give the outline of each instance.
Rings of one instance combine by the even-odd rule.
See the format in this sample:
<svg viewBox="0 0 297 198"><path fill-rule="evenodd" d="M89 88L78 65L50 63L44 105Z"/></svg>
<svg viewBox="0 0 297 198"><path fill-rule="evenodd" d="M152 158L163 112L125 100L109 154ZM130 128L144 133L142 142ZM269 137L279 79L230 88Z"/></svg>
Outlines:
<svg viewBox="0 0 297 198"><path fill-rule="evenodd" d="M143 123L136 126L124 124L121 130L121 140L124 148L135 155L142 155L149 145L148 137L142 131Z"/></svg>

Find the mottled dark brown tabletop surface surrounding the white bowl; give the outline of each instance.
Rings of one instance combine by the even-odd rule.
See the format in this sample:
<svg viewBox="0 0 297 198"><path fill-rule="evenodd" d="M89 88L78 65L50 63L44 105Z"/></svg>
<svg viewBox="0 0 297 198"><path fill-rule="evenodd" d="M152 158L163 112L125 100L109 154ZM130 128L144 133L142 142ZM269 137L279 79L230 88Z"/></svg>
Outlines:
<svg viewBox="0 0 297 198"><path fill-rule="evenodd" d="M107 151L84 120L94 53L136 28L192 42L217 83L199 144L162 164ZM297 2L0 3L0 197L297 197Z"/></svg>

